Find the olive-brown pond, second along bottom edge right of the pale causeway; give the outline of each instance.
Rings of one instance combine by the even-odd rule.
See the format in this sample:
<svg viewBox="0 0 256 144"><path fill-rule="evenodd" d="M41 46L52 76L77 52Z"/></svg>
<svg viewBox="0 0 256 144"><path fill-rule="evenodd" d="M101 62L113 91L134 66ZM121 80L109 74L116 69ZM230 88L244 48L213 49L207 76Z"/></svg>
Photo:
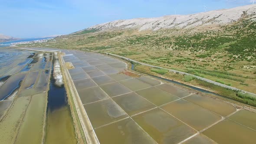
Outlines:
<svg viewBox="0 0 256 144"><path fill-rule="evenodd" d="M132 117L158 144L177 144L196 131L156 108Z"/></svg>

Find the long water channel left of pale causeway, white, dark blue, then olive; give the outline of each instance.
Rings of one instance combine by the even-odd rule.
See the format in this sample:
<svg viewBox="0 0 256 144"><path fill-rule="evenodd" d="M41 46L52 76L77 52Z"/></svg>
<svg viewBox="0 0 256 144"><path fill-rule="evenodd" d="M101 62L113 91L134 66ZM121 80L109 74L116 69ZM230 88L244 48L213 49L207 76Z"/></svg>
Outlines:
<svg viewBox="0 0 256 144"><path fill-rule="evenodd" d="M77 144L57 52L51 70L45 132L45 144Z"/></svg>

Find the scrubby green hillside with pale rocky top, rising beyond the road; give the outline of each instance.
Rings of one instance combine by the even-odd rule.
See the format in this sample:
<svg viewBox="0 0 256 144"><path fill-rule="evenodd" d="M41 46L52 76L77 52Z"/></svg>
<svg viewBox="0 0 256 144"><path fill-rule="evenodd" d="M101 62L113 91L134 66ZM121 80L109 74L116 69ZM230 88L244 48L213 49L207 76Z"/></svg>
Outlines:
<svg viewBox="0 0 256 144"><path fill-rule="evenodd" d="M174 28L158 30L144 29L145 25L124 27L122 24L124 22L112 26L105 23L70 35L56 37L56 41L31 46L109 52L256 93L255 7L256 5L249 5L229 10L178 16L207 17L217 12L217 15L221 15L210 23L207 19L197 21L202 24L197 26L194 23L193 27L191 24L185 25L184 20L182 20L183 27L179 27L180 24ZM128 20L125 21L128 22ZM148 23L151 22L148 21ZM163 26L163 23L160 26ZM137 66L137 69L151 71L142 66ZM164 76L170 75L164 74ZM171 75L170 78L186 81L178 75ZM193 85L197 85L193 79L191 80Z"/></svg>

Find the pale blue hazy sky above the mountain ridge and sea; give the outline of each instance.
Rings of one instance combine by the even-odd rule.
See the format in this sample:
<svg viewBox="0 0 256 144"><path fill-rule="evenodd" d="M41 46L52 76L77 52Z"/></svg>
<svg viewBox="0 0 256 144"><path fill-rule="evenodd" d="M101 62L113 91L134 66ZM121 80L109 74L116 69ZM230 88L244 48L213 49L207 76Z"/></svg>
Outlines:
<svg viewBox="0 0 256 144"><path fill-rule="evenodd" d="M69 34L113 20L191 14L253 0L0 0L0 33L17 38Z"/></svg>

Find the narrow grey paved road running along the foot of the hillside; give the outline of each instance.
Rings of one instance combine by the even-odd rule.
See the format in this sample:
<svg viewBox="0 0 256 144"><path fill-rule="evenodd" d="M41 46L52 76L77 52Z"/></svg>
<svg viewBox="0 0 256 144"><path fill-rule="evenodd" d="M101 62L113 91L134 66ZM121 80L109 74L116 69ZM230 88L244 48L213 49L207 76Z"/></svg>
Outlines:
<svg viewBox="0 0 256 144"><path fill-rule="evenodd" d="M92 51L92 50L89 50L89 49L86 49L86 50ZM97 51L92 51L92 52L97 52ZM163 67L160 67L160 66L149 65L149 64L146 64L146 63L143 63L143 62L138 62L138 61L136 61L136 60L129 59L129 58L126 58L126 57L124 57L124 56L118 56L118 55L115 55L115 54L112 54L112 53L108 53L108 52L105 52L105 54L110 55L110 56L115 56L115 57L118 57L118 58L122 58L122 59L126 59L126 60L131 61L131 62L136 62L136 63L139 63L139 64L141 64L141 65L147 65L147 66L156 67L156 68L160 68L160 69L167 69L167 68L163 68ZM205 79L205 78L202 78L202 77L197 76L197 75L189 74L189 73L187 73L187 72L181 72L181 71L177 71L177 70L174 70L174 69L168 69L168 70L169 70L170 72L179 72L180 74L183 74L183 75L191 75L191 76L194 76L194 77L197 78L197 79L201 79L201 80L203 80L203 81L210 82L210 83L213 83L213 84L215 84L215 85L220 85L220 86L222 86L222 87L224 87L224 88L230 88L230 89L233 89L233 90L238 90L238 91L246 92L246 91L241 90L241 89L239 89L239 88L234 88L234 87L229 86L229 85L224 85L224 84L219 83L219 82L214 82L214 81L212 81L212 80L210 80L210 79ZM253 96L256 96L256 94L254 94L254 93L252 93L252 92L246 92L246 93L251 94L251 95L253 95Z"/></svg>

